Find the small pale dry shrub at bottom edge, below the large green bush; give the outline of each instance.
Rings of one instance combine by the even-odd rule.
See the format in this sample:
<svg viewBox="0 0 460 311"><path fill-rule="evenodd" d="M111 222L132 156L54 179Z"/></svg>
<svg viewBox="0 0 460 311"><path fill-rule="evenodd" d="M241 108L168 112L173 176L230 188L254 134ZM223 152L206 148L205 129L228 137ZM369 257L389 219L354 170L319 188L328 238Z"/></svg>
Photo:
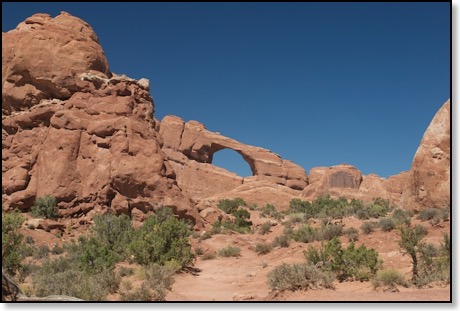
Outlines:
<svg viewBox="0 0 460 311"><path fill-rule="evenodd" d="M166 291L171 290L174 283L176 269L170 266L161 266L153 263L144 268L146 284L154 291L153 299L163 301Z"/></svg>

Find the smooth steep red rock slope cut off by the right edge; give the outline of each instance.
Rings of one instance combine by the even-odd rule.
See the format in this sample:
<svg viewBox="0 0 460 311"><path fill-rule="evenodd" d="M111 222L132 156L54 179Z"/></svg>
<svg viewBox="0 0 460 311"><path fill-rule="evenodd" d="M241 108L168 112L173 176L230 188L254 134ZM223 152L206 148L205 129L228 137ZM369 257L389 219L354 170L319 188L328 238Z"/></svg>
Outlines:
<svg viewBox="0 0 460 311"><path fill-rule="evenodd" d="M450 206L450 100L436 113L415 153L401 205L420 211Z"/></svg>

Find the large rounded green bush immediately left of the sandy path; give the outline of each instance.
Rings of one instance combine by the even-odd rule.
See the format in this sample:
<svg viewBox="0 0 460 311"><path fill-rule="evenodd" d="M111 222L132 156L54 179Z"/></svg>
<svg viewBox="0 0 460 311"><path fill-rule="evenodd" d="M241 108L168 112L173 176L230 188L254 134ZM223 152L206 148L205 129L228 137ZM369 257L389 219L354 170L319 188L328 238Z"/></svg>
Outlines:
<svg viewBox="0 0 460 311"><path fill-rule="evenodd" d="M187 236L186 224L166 208L144 221L136 230L129 248L139 264L165 264L176 260L185 267L194 259Z"/></svg>

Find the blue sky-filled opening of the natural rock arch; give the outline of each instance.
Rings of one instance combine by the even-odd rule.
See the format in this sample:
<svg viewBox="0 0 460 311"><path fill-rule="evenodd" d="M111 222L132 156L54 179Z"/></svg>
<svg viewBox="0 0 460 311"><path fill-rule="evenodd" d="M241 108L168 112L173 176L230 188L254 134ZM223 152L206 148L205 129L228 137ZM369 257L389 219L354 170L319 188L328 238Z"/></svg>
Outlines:
<svg viewBox="0 0 460 311"><path fill-rule="evenodd" d="M249 163L237 151L229 148L220 149L212 154L211 164L224 168L240 177L253 176Z"/></svg>

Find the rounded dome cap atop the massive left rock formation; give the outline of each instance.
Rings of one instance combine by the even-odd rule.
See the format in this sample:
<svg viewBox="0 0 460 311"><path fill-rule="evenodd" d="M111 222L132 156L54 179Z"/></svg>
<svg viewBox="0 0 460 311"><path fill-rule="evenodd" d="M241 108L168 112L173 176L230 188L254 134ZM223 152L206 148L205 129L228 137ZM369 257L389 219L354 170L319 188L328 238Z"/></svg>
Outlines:
<svg viewBox="0 0 460 311"><path fill-rule="evenodd" d="M62 12L35 14L2 33L2 113L27 110L43 99L68 99L79 75L111 76L91 26Z"/></svg>

